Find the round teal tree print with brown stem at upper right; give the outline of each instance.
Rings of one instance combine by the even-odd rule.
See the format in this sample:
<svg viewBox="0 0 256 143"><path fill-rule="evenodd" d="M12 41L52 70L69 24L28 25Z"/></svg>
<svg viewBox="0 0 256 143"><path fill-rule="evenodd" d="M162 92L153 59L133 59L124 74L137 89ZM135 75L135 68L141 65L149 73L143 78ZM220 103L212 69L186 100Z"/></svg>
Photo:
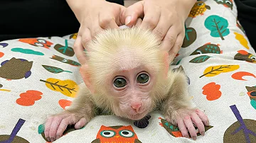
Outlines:
<svg viewBox="0 0 256 143"><path fill-rule="evenodd" d="M210 30L210 35L213 36L213 38L220 37L221 40L225 40L224 36L230 33L230 30L228 29L228 21L220 16L209 16L206 18L204 24L206 28Z"/></svg>

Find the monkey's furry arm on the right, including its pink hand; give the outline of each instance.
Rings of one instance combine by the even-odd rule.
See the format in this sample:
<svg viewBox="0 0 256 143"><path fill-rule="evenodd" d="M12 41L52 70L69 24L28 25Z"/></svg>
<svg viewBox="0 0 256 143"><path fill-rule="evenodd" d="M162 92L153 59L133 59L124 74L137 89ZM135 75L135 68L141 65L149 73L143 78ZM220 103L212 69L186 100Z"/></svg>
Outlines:
<svg viewBox="0 0 256 143"><path fill-rule="evenodd" d="M197 132L193 123L198 127L201 135L204 135L204 125L209 125L208 118L201 110L193 108L191 98L188 96L185 74L182 71L176 71L171 78L174 79L162 106L164 116L173 125L178 124L183 137L188 137L189 131L191 137L196 139Z"/></svg>

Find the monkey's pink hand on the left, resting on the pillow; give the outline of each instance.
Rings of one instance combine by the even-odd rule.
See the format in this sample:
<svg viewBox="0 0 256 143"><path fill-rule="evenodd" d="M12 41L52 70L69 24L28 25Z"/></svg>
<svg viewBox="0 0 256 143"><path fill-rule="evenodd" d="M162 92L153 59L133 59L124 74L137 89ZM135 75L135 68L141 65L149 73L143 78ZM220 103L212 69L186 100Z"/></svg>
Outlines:
<svg viewBox="0 0 256 143"><path fill-rule="evenodd" d="M68 125L75 125L75 129L80 129L87 122L85 115L64 111L47 119L44 134L48 142L53 142L62 137Z"/></svg>

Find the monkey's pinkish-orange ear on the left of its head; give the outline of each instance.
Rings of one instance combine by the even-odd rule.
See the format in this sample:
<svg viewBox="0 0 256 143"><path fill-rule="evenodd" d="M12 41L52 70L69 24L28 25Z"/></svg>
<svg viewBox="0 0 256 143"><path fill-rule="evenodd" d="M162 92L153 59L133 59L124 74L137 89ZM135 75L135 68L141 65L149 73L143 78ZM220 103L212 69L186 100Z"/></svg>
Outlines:
<svg viewBox="0 0 256 143"><path fill-rule="evenodd" d="M82 76L82 80L85 82L85 85L87 88L90 90L91 93L94 93L94 88L92 86L92 82L90 79L90 74L89 74L89 66L87 64L82 64L82 66L79 69L80 74Z"/></svg>

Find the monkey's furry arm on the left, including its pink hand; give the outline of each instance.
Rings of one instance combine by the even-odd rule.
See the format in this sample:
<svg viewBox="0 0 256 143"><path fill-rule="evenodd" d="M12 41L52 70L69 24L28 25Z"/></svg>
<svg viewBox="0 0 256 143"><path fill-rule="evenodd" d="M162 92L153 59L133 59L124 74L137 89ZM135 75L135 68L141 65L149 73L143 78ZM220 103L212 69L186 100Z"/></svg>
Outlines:
<svg viewBox="0 0 256 143"><path fill-rule="evenodd" d="M60 138L68 125L75 125L75 129L85 126L97 114L97 108L92 102L91 94L85 84L80 84L80 91L70 105L70 108L56 115L51 115L45 125L45 137L53 142Z"/></svg>

